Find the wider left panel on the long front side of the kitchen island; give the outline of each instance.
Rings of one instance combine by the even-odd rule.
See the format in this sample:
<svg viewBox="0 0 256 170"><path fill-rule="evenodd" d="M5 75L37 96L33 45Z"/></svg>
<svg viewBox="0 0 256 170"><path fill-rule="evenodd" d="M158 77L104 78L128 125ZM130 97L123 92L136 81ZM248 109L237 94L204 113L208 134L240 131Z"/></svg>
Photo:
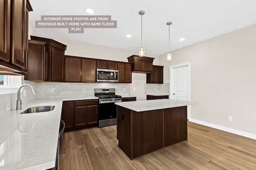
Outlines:
<svg viewBox="0 0 256 170"><path fill-rule="evenodd" d="M163 148L163 111L132 111L132 158Z"/></svg>

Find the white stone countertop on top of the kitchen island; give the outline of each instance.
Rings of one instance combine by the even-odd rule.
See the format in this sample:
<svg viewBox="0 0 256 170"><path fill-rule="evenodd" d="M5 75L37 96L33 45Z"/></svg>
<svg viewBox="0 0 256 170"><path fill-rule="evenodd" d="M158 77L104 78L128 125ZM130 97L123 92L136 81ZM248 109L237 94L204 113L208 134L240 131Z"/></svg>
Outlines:
<svg viewBox="0 0 256 170"><path fill-rule="evenodd" d="M158 100L142 100L132 102L117 102L118 106L131 109L133 111L148 111L156 109L166 109L172 107L189 106L197 104L195 102L181 101L181 100L170 100L170 99L158 99Z"/></svg>

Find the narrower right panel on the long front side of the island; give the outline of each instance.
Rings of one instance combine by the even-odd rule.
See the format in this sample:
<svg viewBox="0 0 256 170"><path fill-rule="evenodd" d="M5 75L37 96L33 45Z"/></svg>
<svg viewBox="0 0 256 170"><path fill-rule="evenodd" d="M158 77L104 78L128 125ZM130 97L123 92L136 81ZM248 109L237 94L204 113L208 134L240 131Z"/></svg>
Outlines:
<svg viewBox="0 0 256 170"><path fill-rule="evenodd" d="M187 106L164 109L164 147L188 139Z"/></svg>

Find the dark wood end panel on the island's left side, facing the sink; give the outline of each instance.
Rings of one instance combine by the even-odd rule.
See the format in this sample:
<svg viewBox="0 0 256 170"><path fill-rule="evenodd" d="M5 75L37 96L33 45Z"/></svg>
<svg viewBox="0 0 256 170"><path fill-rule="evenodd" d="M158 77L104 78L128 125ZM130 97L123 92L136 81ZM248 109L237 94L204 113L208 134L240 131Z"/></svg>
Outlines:
<svg viewBox="0 0 256 170"><path fill-rule="evenodd" d="M124 107L117 107L117 140L119 141L118 146L130 157L131 156L131 125L130 125L130 110Z"/></svg>

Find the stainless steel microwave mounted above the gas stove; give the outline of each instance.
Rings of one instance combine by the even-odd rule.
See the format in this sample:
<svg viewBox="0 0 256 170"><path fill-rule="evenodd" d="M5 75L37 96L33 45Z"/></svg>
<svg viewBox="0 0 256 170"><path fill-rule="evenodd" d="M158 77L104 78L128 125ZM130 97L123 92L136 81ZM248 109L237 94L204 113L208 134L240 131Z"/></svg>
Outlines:
<svg viewBox="0 0 256 170"><path fill-rule="evenodd" d="M97 82L118 82L118 70L97 68L96 75Z"/></svg>

